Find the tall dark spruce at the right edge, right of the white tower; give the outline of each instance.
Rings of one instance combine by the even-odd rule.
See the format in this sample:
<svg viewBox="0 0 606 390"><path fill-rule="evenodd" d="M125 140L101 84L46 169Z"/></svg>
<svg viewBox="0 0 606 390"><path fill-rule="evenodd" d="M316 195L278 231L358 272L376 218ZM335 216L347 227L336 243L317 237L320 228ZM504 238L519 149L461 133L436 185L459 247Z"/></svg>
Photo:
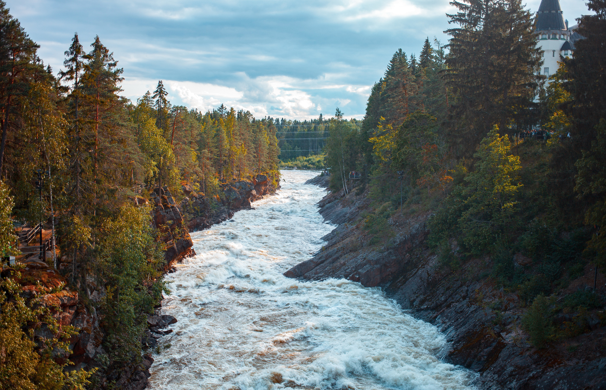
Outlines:
<svg viewBox="0 0 606 390"><path fill-rule="evenodd" d="M596 15L582 16L577 32L585 37L575 42L574 58L565 61L564 87L570 93L562 105L572 119L571 143L582 157L574 165L578 197L583 201L585 225L591 240L585 255L606 271L606 2L587 3ZM568 157L568 156L567 156ZM570 161L571 158L568 157ZM571 176L568 173L568 176Z"/></svg>

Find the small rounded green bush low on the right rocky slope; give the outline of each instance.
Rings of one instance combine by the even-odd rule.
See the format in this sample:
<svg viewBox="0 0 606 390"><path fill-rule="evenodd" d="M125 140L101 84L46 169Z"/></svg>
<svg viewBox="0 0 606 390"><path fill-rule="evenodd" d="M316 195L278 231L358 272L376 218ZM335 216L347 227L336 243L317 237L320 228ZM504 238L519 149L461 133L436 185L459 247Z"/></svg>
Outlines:
<svg viewBox="0 0 606 390"><path fill-rule="evenodd" d="M530 343L536 348L544 348L545 344L554 339L553 302L544 295L536 297L522 317L522 326L530 335Z"/></svg>

